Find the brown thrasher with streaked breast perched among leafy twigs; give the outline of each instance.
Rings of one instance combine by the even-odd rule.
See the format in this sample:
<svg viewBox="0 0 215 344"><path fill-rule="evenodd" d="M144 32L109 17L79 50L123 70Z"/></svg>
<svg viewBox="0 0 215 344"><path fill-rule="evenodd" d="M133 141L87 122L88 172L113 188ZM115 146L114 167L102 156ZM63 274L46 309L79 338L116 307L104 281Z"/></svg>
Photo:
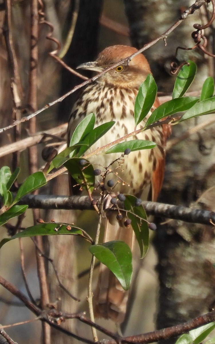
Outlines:
<svg viewBox="0 0 215 344"><path fill-rule="evenodd" d="M68 124L69 139L78 123L92 112L96 117L96 126L111 120L115 121L115 125L88 152L134 131L135 98L140 84L151 71L142 54L132 58L129 64L120 63L120 60L136 51L135 48L125 45L110 46L99 54L96 61L83 63L78 67L102 72L105 68L119 62L116 68L87 85L72 108ZM158 106L159 100L156 98L152 109ZM144 127L150 114L151 111L137 129ZM169 133L169 125L162 125L143 131L138 137L130 137L128 140L138 138L154 141L157 146L154 149L135 151L125 155L122 166L115 162L111 166L112 171L107 175L105 189L111 192L106 183L109 179L113 179L116 182L114 193L128 193L142 200L155 201L163 181L165 147ZM119 153L101 154L92 156L89 160L95 169L99 168L103 173L119 156ZM97 185L99 180L101 181L101 176L96 178ZM119 180L121 182L117 183ZM111 240L125 241L131 249L134 241L131 226L126 228L123 222L117 221L115 212L108 212L106 215L104 242ZM112 272L101 264L95 292L95 315L121 323L124 319L127 299L128 292L122 289Z"/></svg>

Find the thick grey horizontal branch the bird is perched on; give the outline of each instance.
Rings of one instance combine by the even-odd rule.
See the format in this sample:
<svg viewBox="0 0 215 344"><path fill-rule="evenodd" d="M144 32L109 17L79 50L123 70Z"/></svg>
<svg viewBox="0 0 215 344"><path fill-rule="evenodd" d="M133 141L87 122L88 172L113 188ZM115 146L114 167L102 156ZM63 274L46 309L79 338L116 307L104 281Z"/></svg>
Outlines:
<svg viewBox="0 0 215 344"><path fill-rule="evenodd" d="M41 209L94 209L88 196L28 195L23 197L19 204L28 204L30 208ZM148 215L204 225L215 223L215 213L206 210L147 201L143 201L142 205Z"/></svg>

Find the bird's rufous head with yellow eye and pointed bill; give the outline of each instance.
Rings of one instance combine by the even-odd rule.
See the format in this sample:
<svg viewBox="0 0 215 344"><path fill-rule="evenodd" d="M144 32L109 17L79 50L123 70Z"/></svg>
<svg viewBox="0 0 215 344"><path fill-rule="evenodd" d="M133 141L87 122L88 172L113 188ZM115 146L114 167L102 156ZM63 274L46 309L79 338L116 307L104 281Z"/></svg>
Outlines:
<svg viewBox="0 0 215 344"><path fill-rule="evenodd" d="M134 54L137 49L126 45L113 45L105 48L96 61L82 63L77 68L88 69L98 73L119 63L117 67L102 75L97 82L120 87L139 87L151 73L146 57L139 54L129 63L120 63L125 57Z"/></svg>

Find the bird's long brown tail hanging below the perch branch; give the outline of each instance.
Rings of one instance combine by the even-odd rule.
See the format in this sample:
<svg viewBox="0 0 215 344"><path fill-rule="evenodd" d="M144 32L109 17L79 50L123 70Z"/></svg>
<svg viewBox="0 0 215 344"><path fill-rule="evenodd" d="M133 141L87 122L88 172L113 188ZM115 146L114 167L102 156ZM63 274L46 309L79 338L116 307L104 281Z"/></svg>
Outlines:
<svg viewBox="0 0 215 344"><path fill-rule="evenodd" d="M107 212L104 242L121 240L133 249L134 232L131 226L124 226L124 219L117 221L116 212ZM124 320L129 291L125 291L113 273L103 264L95 291L95 316L111 319L115 323Z"/></svg>

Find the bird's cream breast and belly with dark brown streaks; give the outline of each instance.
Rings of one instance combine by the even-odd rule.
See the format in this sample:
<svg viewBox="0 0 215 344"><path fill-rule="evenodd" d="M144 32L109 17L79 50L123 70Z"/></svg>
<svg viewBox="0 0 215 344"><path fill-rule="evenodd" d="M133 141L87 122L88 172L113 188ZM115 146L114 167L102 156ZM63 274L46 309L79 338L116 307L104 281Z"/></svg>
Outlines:
<svg viewBox="0 0 215 344"><path fill-rule="evenodd" d="M138 89L110 88L100 84L94 87L89 85L73 106L68 128L70 138L78 123L92 112L95 114L96 126L108 121L115 121L115 124L89 148L86 154L133 132L135 128L134 103L137 92ZM144 123L140 123L137 129L143 127ZM164 155L162 129L161 127L152 128L139 133L138 136L129 137L125 141L134 139L154 141L157 147L131 152L124 157L121 153L101 153L92 156L89 160L95 169L102 171L102 174L108 169L106 183L110 179L114 181L113 192L130 193L138 197L143 197L146 193L144 198L147 198L151 174L156 169L157 160L163 158ZM97 185L100 180L101 176L96 177ZM106 188L110 191L108 186Z"/></svg>

